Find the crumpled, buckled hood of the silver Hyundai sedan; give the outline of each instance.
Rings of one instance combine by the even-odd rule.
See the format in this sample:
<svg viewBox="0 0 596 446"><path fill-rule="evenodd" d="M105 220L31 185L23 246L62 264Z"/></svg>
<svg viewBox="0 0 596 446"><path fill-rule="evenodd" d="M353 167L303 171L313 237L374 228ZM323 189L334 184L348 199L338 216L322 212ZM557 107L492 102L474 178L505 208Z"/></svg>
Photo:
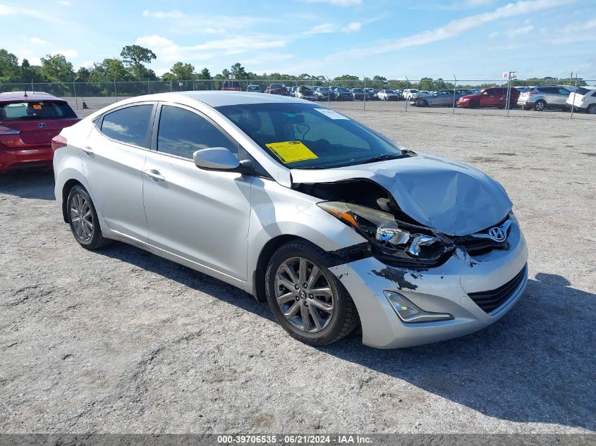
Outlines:
<svg viewBox="0 0 596 446"><path fill-rule="evenodd" d="M447 235L477 233L499 223L512 206L504 188L485 173L428 154L320 171L293 169L291 175L294 183L375 181L408 216Z"/></svg>

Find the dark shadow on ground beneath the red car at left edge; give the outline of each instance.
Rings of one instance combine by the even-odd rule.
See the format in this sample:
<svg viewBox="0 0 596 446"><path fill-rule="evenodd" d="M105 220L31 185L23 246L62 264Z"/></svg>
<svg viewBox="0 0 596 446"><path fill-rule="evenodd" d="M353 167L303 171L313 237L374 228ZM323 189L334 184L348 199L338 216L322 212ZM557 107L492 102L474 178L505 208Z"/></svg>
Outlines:
<svg viewBox="0 0 596 446"><path fill-rule="evenodd" d="M18 171L0 175L0 194L53 200L54 171Z"/></svg>

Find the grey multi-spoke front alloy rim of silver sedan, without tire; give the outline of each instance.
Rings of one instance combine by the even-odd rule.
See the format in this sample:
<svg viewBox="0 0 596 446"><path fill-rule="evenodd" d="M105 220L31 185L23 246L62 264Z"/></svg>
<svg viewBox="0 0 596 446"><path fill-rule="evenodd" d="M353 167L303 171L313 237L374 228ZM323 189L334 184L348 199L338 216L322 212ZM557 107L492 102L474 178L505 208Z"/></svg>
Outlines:
<svg viewBox="0 0 596 446"><path fill-rule="evenodd" d="M303 257L281 263L275 274L275 297L289 323L308 333L329 325L336 298L318 266Z"/></svg>

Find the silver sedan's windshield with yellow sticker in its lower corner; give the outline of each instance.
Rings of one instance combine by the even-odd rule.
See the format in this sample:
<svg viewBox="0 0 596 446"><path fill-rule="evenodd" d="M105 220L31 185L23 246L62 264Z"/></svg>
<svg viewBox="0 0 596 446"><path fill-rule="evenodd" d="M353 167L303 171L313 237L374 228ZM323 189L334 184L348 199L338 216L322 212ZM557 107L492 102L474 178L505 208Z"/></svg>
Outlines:
<svg viewBox="0 0 596 446"><path fill-rule="evenodd" d="M364 125L319 105L239 104L216 109L288 168L353 166L408 156Z"/></svg>

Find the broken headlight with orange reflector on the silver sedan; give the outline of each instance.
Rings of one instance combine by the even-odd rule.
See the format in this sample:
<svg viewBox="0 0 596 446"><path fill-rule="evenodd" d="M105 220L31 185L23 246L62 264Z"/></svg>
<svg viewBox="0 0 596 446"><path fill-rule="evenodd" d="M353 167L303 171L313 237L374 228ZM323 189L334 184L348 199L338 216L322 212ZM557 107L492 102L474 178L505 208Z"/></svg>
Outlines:
<svg viewBox="0 0 596 446"><path fill-rule="evenodd" d="M317 206L363 235L384 261L432 266L441 263L454 249L446 236L398 222L388 212L344 202L320 202Z"/></svg>

